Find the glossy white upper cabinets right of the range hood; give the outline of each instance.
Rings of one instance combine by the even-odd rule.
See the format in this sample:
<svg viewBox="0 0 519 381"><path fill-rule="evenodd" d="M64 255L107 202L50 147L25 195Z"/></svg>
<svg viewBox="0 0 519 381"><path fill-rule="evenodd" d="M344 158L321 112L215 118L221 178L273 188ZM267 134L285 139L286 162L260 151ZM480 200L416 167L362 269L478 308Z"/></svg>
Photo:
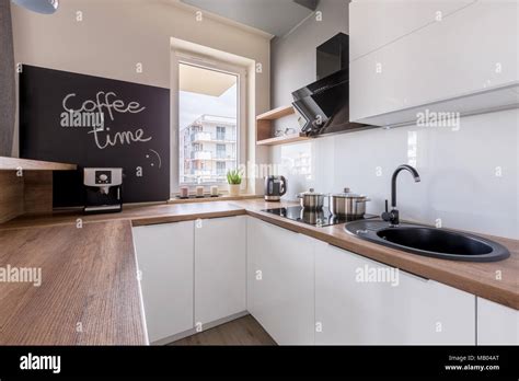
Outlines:
<svg viewBox="0 0 519 381"><path fill-rule="evenodd" d="M350 120L415 123L519 106L514 1L350 4Z"/></svg>

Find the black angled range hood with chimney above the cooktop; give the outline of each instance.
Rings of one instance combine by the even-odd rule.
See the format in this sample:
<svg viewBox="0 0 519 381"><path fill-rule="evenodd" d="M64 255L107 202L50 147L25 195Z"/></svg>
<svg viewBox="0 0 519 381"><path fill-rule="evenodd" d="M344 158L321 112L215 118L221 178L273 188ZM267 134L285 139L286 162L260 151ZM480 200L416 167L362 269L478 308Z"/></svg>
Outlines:
<svg viewBox="0 0 519 381"><path fill-rule="evenodd" d="M349 36L339 33L316 49L318 81L292 93L301 131L308 136L374 126L349 122Z"/></svg>

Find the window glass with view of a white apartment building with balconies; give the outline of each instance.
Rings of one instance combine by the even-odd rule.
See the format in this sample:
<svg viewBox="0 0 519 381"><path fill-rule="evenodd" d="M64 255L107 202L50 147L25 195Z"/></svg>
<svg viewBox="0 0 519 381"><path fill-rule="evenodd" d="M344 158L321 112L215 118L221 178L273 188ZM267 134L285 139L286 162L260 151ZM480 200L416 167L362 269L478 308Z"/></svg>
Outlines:
<svg viewBox="0 0 519 381"><path fill-rule="evenodd" d="M237 169L241 159L244 70L183 58L176 65L180 129L178 146L173 150L178 152L176 185L223 185L227 171Z"/></svg>

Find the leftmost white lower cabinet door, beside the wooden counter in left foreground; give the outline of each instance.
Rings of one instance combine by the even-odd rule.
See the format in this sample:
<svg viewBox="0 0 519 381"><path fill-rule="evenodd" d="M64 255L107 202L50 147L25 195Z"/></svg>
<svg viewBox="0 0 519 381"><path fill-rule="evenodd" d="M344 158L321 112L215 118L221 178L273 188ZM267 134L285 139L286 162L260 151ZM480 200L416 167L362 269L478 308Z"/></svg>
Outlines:
<svg viewBox="0 0 519 381"><path fill-rule="evenodd" d="M194 327L193 221L134 228L150 342Z"/></svg>

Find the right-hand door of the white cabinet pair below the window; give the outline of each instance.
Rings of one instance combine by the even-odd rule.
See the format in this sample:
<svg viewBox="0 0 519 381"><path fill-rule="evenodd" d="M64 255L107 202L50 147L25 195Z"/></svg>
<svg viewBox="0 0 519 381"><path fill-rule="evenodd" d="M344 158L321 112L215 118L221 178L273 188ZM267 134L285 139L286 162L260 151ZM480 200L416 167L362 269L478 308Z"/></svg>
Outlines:
<svg viewBox="0 0 519 381"><path fill-rule="evenodd" d="M246 310L246 217L215 218L195 228L195 322Z"/></svg>

